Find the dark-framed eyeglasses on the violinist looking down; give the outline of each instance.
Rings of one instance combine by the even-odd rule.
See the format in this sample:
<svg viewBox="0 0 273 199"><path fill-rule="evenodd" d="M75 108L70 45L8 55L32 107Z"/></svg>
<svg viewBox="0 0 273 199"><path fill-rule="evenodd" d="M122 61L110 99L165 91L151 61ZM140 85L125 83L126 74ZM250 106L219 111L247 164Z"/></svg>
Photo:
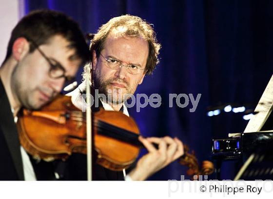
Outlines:
<svg viewBox="0 0 273 199"><path fill-rule="evenodd" d="M64 74L65 74L66 70L64 69L64 67L61 66L61 64L58 61L56 61L56 63L53 64L52 61L50 60L50 58L45 55L45 53L39 48L39 46L36 44L35 41L33 41L31 39L27 39L27 40L31 44L33 44L35 49L37 49L39 51L39 53L43 56L43 58L48 62L49 66L50 66L50 69L48 71L49 77L51 77L53 79L64 78L66 83L72 83L75 81L75 77L65 76Z"/></svg>

